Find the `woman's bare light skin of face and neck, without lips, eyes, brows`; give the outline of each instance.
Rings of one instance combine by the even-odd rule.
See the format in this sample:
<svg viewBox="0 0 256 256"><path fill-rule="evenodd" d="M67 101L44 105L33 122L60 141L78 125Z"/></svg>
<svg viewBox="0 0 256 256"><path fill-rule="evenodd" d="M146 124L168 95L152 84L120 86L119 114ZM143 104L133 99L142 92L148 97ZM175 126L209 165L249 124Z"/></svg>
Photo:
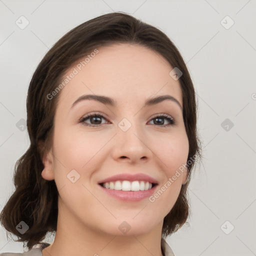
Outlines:
<svg viewBox="0 0 256 256"><path fill-rule="evenodd" d="M54 179L59 191L57 231L42 254L160 256L163 218L173 207L186 172L154 202L118 200L101 191L97 182L118 173L142 172L155 178L160 188L186 162L188 138L178 104L164 100L142 107L148 97L164 94L182 106L180 84L169 75L173 67L167 60L144 46L115 43L97 49L59 92L53 144L43 157L41 173L46 180ZM117 105L83 100L70 109L83 94L109 96ZM102 126L78 122L94 111L106 117L98 122ZM169 124L167 119L154 124L156 114L170 115L175 125L163 127ZM123 118L131 123L125 132L118 127ZM80 174L74 183L66 177L72 169ZM131 227L125 234L118 228L123 221Z"/></svg>

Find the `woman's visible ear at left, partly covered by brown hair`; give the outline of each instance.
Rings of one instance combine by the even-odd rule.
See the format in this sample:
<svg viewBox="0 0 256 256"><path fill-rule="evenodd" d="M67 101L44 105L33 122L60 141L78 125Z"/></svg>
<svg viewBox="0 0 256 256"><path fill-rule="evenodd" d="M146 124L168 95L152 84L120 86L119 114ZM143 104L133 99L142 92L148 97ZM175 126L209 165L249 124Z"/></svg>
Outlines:
<svg viewBox="0 0 256 256"><path fill-rule="evenodd" d="M43 148L43 142L39 142L39 149ZM41 172L41 176L46 180L54 179L54 172L53 172L53 154L51 149L44 153L42 156L42 163L43 163L43 170Z"/></svg>

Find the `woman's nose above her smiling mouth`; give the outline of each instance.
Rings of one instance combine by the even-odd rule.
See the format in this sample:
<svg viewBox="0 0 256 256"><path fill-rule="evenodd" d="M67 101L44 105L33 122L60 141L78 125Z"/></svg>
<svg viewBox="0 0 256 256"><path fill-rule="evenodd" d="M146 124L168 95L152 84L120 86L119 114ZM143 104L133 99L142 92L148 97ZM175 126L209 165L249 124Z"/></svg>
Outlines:
<svg viewBox="0 0 256 256"><path fill-rule="evenodd" d="M131 125L126 131L117 127L112 147L112 157L116 161L135 163L148 161L152 157L149 140L141 127Z"/></svg>

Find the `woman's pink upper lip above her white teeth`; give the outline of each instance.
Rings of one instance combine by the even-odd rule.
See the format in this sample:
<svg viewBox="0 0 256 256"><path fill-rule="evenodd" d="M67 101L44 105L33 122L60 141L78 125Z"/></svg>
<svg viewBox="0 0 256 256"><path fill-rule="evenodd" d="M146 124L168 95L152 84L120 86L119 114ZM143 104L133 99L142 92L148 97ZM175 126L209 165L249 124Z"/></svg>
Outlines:
<svg viewBox="0 0 256 256"><path fill-rule="evenodd" d="M105 182L116 181L116 180L129 180L129 181L144 180L144 181L148 181L149 183L157 184L157 180L155 180L154 178L144 173L137 173L137 174L120 173L120 174L116 174L111 177L102 179L98 181L98 183L105 183Z"/></svg>

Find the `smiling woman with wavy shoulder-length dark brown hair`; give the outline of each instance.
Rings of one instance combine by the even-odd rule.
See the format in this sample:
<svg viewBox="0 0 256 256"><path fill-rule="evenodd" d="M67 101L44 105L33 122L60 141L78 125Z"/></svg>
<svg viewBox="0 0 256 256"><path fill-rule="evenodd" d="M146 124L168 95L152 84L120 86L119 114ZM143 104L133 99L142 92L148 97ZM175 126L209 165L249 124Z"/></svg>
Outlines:
<svg viewBox="0 0 256 256"><path fill-rule="evenodd" d="M31 255L174 255L165 238L189 215L200 147L193 84L163 32L121 12L70 30L32 76L27 129L0 221Z"/></svg>

